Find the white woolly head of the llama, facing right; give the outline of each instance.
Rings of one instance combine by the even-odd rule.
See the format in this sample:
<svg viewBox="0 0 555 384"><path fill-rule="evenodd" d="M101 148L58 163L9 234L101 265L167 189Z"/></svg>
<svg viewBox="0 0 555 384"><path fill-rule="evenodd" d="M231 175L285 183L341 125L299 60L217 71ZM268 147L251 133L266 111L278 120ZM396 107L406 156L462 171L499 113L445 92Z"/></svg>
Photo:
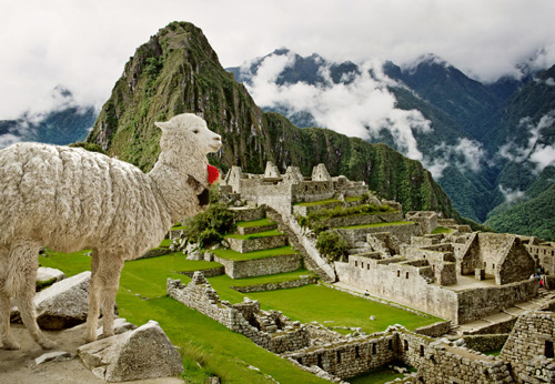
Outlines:
<svg viewBox="0 0 555 384"><path fill-rule="evenodd" d="M222 148L222 138L208 129L204 119L193 113L178 114L169 121L154 124L164 133L184 133L194 137L204 153L218 152Z"/></svg>

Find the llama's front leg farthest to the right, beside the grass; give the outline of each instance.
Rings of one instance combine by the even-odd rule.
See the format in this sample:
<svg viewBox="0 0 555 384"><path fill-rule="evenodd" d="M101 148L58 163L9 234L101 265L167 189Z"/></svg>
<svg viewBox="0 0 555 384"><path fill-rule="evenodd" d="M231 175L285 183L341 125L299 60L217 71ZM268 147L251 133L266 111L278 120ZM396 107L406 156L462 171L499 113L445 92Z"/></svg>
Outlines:
<svg viewBox="0 0 555 384"><path fill-rule="evenodd" d="M120 285L121 270L123 269L123 261L119 259L104 260L99 269L99 274L102 281L102 291L100 300L102 304L102 326L103 336L113 335L113 317L115 306L115 294Z"/></svg>

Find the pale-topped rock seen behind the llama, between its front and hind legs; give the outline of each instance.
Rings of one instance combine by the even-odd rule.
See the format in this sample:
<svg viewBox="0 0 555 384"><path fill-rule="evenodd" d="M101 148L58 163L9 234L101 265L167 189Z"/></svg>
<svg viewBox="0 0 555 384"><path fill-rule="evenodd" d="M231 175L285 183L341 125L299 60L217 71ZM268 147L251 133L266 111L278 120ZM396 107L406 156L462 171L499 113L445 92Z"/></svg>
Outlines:
<svg viewBox="0 0 555 384"><path fill-rule="evenodd" d="M63 330L83 323L89 309L91 272L82 272L42 290L34 296L37 323L43 330ZM11 309L11 321L21 322L18 307Z"/></svg>

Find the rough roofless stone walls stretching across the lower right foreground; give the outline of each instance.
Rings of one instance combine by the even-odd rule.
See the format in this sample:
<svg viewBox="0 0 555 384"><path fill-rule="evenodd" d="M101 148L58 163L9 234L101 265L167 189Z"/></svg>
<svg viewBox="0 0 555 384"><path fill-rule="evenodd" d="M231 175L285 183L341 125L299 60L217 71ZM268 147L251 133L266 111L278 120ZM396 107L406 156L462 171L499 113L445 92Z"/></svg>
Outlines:
<svg viewBox="0 0 555 384"><path fill-rule="evenodd" d="M463 340L433 338L448 331L448 323L416 332L394 325L370 335L357 330L342 335L315 322L291 322L280 312L261 311L256 301L220 301L200 272L186 286L169 279L168 294L299 367L332 381L398 361L417 368L410 376L413 383L553 383L555 377L553 312L522 315L496 357L466 347Z"/></svg>

